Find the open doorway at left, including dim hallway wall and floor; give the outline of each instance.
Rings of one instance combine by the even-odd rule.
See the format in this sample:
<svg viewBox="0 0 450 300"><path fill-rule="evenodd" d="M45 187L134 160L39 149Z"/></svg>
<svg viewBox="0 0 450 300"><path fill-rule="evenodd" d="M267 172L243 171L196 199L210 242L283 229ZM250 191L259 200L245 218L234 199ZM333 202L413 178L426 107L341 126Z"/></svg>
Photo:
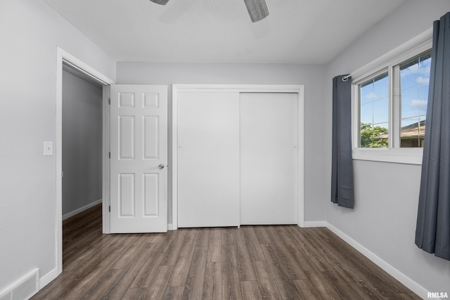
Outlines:
<svg viewBox="0 0 450 300"><path fill-rule="evenodd" d="M102 218L81 218L101 209L103 87L63 63L63 268L79 252L81 233L101 233ZM95 209L91 209L96 207ZM100 214L101 216L101 214Z"/></svg>

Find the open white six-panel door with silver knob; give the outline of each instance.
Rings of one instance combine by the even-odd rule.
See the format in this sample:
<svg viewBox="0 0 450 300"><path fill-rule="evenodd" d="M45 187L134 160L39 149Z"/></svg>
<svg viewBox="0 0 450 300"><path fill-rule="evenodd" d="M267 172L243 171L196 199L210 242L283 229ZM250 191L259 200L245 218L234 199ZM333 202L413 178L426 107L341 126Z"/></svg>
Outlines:
<svg viewBox="0 0 450 300"><path fill-rule="evenodd" d="M110 232L166 232L167 86L116 84L110 96Z"/></svg>

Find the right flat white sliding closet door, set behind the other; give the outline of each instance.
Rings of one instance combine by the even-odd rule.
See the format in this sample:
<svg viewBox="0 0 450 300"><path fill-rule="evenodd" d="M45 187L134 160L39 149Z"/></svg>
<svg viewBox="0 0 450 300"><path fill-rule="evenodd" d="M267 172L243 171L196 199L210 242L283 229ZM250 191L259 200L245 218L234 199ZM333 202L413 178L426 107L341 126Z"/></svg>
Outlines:
<svg viewBox="0 0 450 300"><path fill-rule="evenodd" d="M240 94L240 223L297 223L297 93Z"/></svg>

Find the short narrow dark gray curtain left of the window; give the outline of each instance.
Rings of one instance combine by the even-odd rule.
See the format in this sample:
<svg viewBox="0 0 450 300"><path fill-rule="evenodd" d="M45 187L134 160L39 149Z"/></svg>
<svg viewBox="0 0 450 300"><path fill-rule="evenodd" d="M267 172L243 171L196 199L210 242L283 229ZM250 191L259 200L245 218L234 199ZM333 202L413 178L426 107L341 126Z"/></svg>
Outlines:
<svg viewBox="0 0 450 300"><path fill-rule="evenodd" d="M353 208L352 80L333 78L333 151L331 202Z"/></svg>

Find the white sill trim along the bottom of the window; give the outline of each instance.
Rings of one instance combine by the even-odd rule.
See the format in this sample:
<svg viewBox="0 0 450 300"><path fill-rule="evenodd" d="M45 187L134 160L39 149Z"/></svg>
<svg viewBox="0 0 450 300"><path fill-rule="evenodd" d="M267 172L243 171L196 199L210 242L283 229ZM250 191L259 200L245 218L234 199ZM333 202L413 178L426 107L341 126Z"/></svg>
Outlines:
<svg viewBox="0 0 450 300"><path fill-rule="evenodd" d="M361 149L352 151L352 157L356 160L370 160L373 162L392 162L396 164L422 164L422 148L402 149Z"/></svg>

